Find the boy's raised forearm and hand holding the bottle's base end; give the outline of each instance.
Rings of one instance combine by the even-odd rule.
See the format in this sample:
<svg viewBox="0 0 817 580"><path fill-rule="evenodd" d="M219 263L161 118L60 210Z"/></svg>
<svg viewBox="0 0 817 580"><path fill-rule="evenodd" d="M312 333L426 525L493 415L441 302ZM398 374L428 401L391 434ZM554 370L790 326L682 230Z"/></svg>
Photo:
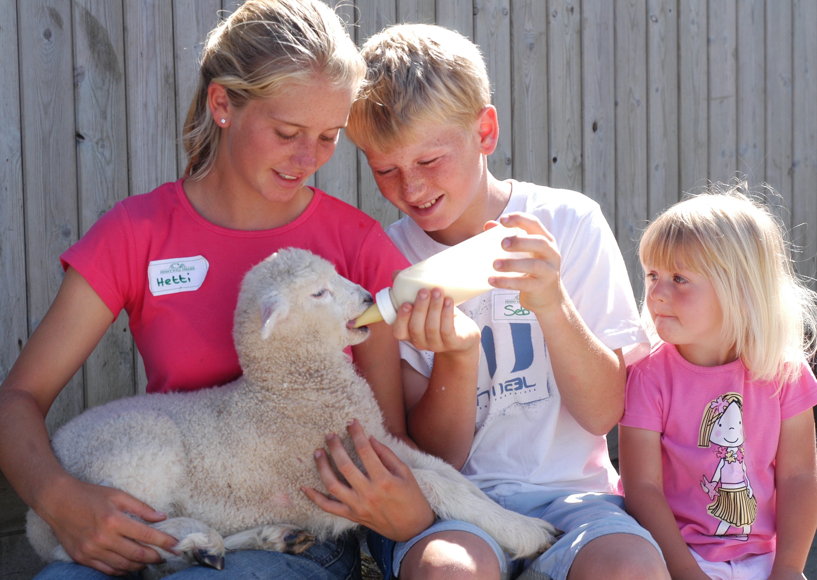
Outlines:
<svg viewBox="0 0 817 580"><path fill-rule="evenodd" d="M502 225L519 227L528 235L509 239L510 252L530 252L531 258L494 262L497 288L520 291L520 305L536 315L551 355L551 366L565 407L587 431L605 435L624 413L627 368L621 350L610 350L587 328L560 278L561 256L553 235L535 216L511 213Z"/></svg>

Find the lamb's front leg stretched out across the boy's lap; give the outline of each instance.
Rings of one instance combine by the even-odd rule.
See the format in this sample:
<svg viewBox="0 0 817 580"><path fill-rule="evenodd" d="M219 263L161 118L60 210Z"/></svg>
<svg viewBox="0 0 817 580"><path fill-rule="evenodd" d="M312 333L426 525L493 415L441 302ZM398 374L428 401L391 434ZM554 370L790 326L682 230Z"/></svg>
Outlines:
<svg viewBox="0 0 817 580"><path fill-rule="evenodd" d="M527 558L551 547L556 529L545 520L506 510L438 457L408 447L399 439L386 444L412 468L423 495L440 518L475 524L511 558Z"/></svg>

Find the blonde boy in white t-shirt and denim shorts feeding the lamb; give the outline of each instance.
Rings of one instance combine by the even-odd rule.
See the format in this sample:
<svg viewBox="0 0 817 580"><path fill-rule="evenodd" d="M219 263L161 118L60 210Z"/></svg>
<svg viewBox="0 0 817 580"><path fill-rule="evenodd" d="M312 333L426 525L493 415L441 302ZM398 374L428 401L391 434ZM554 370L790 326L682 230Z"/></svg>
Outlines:
<svg viewBox="0 0 817 580"><path fill-rule="evenodd" d="M650 534L622 509L605 433L622 416L622 349L646 338L597 203L568 190L498 181L484 61L458 33L399 25L363 48L368 93L347 134L383 196L406 216L388 234L416 262L483 230L525 260L495 264L497 288L453 308L439 290L400 308L409 432L509 509L564 530L533 562L509 562L474 526L436 521L408 542L370 538L400 578L669 578ZM511 279L503 272L523 272ZM512 321L505 305L511 309ZM462 315L465 313L465 315Z"/></svg>

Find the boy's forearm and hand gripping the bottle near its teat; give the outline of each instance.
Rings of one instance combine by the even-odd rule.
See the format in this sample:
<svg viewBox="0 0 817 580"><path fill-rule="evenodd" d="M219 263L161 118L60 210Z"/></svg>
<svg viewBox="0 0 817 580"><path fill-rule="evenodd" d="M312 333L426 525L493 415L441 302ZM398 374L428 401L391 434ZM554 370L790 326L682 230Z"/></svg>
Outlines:
<svg viewBox="0 0 817 580"><path fill-rule="evenodd" d="M394 332L435 353L427 379L403 361L408 433L424 451L460 469L474 439L480 331L434 288L400 307Z"/></svg>

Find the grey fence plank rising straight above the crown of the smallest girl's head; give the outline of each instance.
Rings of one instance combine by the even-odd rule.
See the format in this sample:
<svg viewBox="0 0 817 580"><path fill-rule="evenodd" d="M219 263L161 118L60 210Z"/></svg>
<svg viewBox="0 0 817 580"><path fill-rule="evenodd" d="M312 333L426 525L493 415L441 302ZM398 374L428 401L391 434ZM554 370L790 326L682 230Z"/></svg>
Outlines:
<svg viewBox="0 0 817 580"><path fill-rule="evenodd" d="M737 6L709 2L709 179L727 182L737 170Z"/></svg>

